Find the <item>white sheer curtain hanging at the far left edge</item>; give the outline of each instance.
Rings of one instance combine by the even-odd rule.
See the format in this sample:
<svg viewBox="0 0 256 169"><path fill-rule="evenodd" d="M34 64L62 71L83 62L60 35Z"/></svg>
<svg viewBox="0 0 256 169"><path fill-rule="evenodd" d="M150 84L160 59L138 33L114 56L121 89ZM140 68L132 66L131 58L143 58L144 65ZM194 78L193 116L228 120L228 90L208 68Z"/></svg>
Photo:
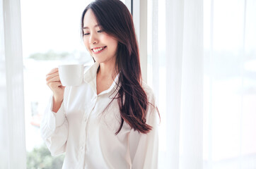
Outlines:
<svg viewBox="0 0 256 169"><path fill-rule="evenodd" d="M25 169L19 0L0 0L0 168Z"/></svg>

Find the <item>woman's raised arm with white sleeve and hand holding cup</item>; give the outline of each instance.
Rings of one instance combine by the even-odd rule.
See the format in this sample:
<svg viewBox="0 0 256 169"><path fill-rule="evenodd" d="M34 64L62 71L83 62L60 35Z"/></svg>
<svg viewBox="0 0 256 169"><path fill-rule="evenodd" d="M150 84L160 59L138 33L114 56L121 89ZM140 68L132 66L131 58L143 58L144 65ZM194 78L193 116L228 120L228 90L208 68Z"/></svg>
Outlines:
<svg viewBox="0 0 256 169"><path fill-rule="evenodd" d="M52 156L62 154L66 150L69 124L66 120L65 98L69 89L62 86L59 70L54 68L46 75L46 84L52 90L52 97L45 110L40 124L41 136Z"/></svg>

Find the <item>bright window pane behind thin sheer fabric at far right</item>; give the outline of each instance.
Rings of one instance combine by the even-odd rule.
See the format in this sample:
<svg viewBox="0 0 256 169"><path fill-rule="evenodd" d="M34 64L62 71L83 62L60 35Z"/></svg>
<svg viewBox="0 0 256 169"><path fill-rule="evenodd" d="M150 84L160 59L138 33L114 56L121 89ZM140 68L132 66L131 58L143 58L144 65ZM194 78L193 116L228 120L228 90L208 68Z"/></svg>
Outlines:
<svg viewBox="0 0 256 169"><path fill-rule="evenodd" d="M255 168L256 3L204 2L204 168Z"/></svg>

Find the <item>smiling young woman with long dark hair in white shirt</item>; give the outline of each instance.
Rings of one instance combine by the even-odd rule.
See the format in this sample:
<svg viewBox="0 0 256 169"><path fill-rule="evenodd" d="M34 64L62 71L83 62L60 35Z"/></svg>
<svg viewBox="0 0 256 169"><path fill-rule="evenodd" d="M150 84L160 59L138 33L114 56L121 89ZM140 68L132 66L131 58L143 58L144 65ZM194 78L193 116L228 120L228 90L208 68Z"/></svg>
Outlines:
<svg viewBox="0 0 256 169"><path fill-rule="evenodd" d="M158 168L158 110L141 80L132 15L119 0L94 1L81 33L95 63L78 87L63 87L57 68L47 74L53 96L41 134L48 149L66 153L62 168Z"/></svg>

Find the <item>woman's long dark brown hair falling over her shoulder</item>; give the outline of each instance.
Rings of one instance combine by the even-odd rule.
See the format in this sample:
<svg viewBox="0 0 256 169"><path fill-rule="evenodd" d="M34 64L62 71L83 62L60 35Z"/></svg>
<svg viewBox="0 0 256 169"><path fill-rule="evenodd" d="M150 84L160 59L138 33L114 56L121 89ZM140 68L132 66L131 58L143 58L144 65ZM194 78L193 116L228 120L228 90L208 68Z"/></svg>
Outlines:
<svg viewBox="0 0 256 169"><path fill-rule="evenodd" d="M122 129L124 121L134 130L148 133L152 127L146 124L146 110L149 106L146 92L142 88L139 47L136 40L132 15L119 0L96 0L89 4L81 17L81 34L86 11L91 9L104 32L117 39L116 68L119 72L118 104L120 106Z"/></svg>

